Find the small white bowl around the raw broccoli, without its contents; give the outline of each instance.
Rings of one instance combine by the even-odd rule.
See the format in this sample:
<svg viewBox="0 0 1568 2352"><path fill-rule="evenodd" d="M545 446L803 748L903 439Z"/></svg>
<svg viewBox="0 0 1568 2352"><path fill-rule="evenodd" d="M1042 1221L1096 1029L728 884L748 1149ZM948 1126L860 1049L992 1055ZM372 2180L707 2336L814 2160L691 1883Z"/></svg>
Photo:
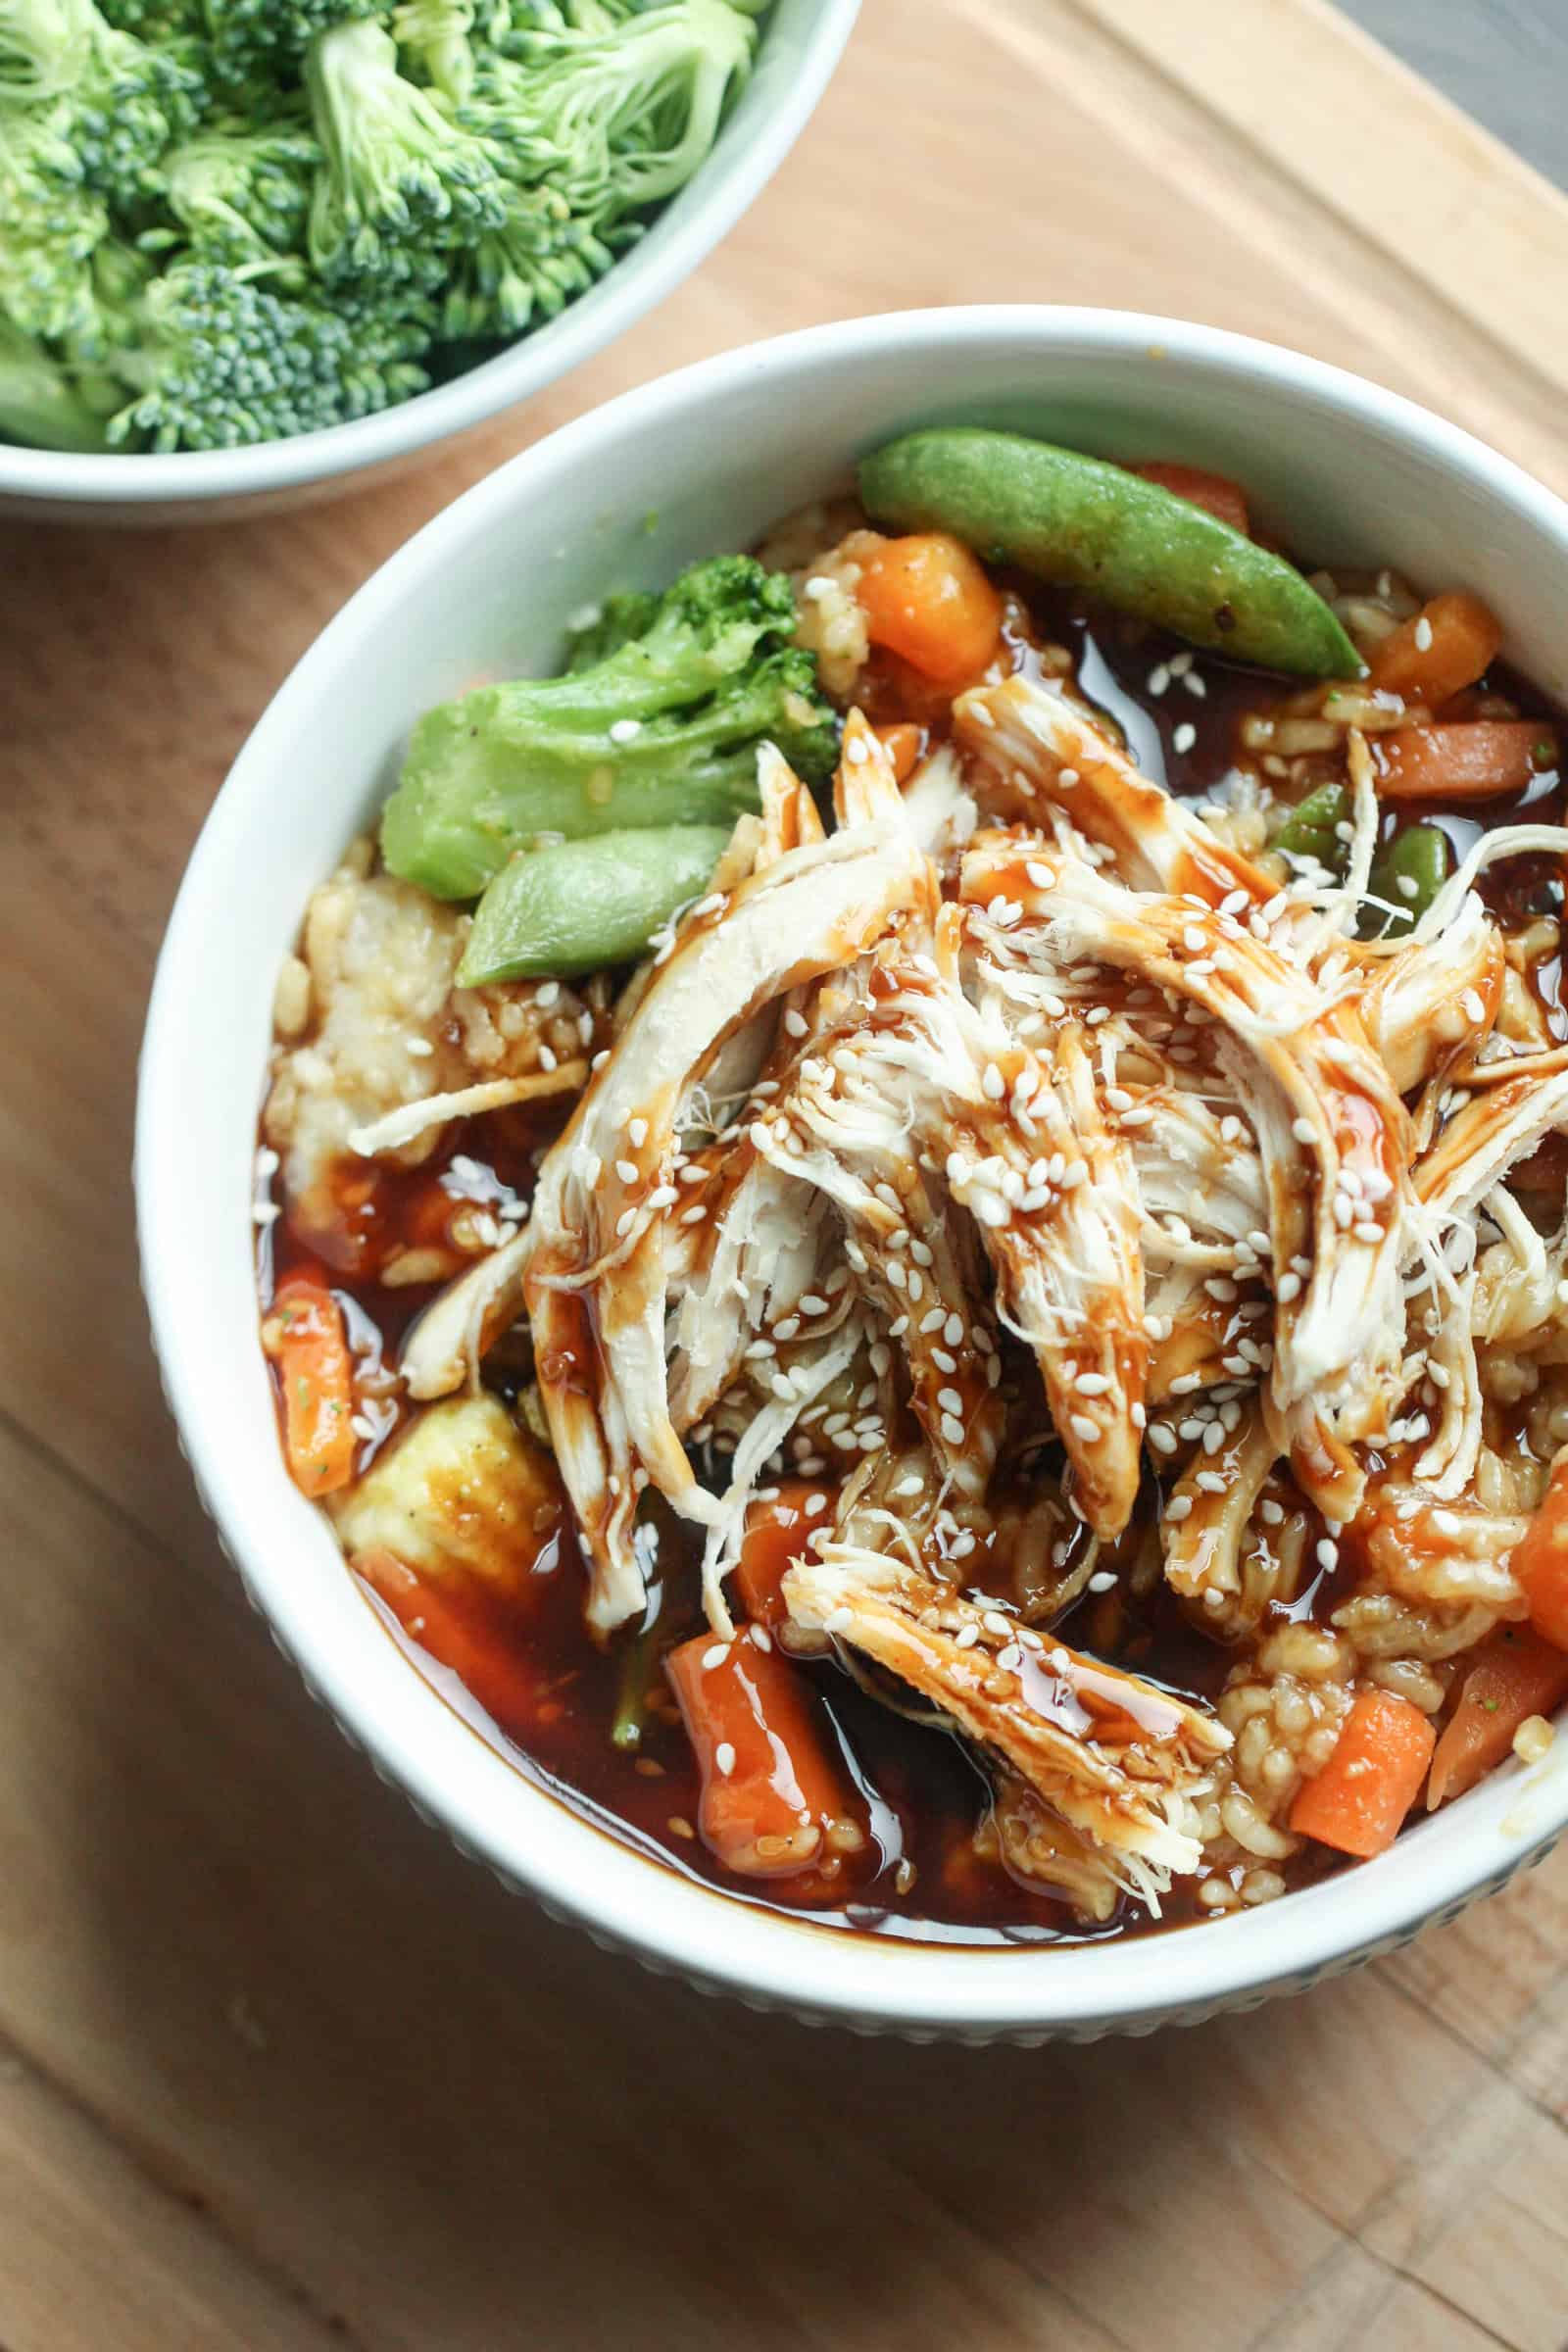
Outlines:
<svg viewBox="0 0 1568 2352"><path fill-rule="evenodd" d="M407 473L590 360L726 238L823 96L860 0L773 0L757 64L712 155L649 233L578 301L494 360L357 423L256 449L71 456L0 440L0 515L26 522L228 522Z"/></svg>

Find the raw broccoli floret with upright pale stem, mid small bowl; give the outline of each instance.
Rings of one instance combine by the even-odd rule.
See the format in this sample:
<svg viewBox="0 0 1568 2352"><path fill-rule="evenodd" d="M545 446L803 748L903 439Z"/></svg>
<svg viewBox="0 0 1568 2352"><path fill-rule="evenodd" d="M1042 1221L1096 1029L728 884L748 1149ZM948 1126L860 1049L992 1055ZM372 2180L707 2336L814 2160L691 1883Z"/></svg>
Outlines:
<svg viewBox="0 0 1568 2352"><path fill-rule="evenodd" d="M310 113L327 162L310 207L310 259L331 282L435 287L454 247L505 221L484 141L397 71L378 24L343 24L306 54Z"/></svg>

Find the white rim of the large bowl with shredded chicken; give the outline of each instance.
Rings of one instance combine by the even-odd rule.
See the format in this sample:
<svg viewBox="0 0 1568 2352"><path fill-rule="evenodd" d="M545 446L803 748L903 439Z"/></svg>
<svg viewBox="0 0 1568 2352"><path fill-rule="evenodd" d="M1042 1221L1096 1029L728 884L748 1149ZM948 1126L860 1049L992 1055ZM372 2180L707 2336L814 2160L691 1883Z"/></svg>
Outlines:
<svg viewBox="0 0 1568 2352"><path fill-rule="evenodd" d="M1422 449L1502 506L1528 510L1533 524L1556 539L1568 572L1568 503L1512 459L1347 369L1185 320L1025 303L884 313L729 350L621 393L475 482L388 557L301 656L242 746L193 849L153 981L136 1103L136 1216L141 1279L165 1392L223 1548L277 1642L339 1726L465 1853L484 1860L505 1884L531 1891L555 1917L576 1922L599 1943L630 1950L656 1971L675 1971L703 1990L733 1992L755 2006L788 2009L809 2023L919 2037L1088 2039L1098 2032L1150 2030L1157 2023L1192 2023L1239 2004L1255 2006L1269 1992L1302 1987L1408 1940L1439 1915L1453 1915L1526 1863L1540 1860L1568 1828L1568 1769L1561 1769L1568 1759L1556 1755L1528 1776L1502 1766L1458 1809L1406 1832L1373 1865L1281 1903L1175 1933L1048 1950L919 1945L813 1926L691 1882L581 1816L574 1820L583 1844L569 1842L567 1865L543 1867L529 1851L527 1818L534 1804L569 1809L536 1788L529 1788L524 1802L496 1806L489 1818L454 1802L447 1764L458 1750L449 1736L440 1736L437 1719L456 1726L473 1748L482 1743L451 1717L437 1691L390 1642L388 1656L409 1686L411 1703L402 1712L421 1715L418 1738L409 1743L383 1719L364 1717L350 1663L315 1639L308 1606L296 1604L289 1578L280 1573L282 1562L252 1538L230 1477L235 1449L188 1376L179 1345L181 1317L195 1310L197 1298L190 1279L179 1272L188 1235L176 1117L181 1084L188 1084L181 1077L181 1002L207 953L205 873L230 849L230 837L237 842L249 833L249 800L266 783L273 739L284 736L292 706L308 701L341 656L362 640L374 640L381 614L397 604L404 583L440 572L461 555L470 534L482 534L498 485L522 487L529 475L569 473L578 466L590 475L602 452L665 412L762 379L788 388L790 376L809 376L818 362L842 360L846 353L867 360L903 353L917 362L933 339L980 346L994 339L1016 348L1020 334L1037 336L1041 353L1077 341L1095 358L1159 355L1246 379L1265 397L1269 388L1305 395L1373 435ZM503 1757L487 1762L510 1785L517 1783ZM473 1776L465 1773L468 1778Z"/></svg>

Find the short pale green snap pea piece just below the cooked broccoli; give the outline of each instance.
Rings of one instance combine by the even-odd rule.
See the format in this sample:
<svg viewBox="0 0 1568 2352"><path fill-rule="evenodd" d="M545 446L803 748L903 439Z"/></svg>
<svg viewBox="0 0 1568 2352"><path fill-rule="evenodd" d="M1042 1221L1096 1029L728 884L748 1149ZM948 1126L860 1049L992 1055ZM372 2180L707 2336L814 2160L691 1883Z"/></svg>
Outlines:
<svg viewBox="0 0 1568 2352"><path fill-rule="evenodd" d="M663 922L701 898L729 826L595 833L520 849L475 908L458 985L597 971L642 955Z"/></svg>

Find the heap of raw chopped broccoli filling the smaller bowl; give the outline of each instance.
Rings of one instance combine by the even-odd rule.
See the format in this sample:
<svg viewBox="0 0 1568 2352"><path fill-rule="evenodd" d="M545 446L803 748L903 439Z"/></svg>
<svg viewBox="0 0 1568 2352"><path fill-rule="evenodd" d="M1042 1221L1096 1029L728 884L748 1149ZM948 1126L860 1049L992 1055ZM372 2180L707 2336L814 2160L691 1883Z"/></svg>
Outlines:
<svg viewBox="0 0 1568 2352"><path fill-rule="evenodd" d="M555 318L703 165L748 0L9 0L0 437L233 449Z"/></svg>

